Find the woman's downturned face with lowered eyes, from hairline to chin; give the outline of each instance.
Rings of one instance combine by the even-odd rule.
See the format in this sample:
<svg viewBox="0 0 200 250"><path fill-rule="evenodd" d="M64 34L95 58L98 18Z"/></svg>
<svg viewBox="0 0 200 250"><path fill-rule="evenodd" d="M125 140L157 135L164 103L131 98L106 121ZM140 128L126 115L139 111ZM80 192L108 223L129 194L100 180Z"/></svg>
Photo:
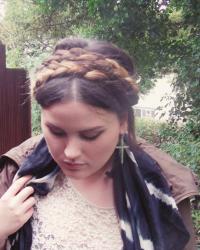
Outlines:
<svg viewBox="0 0 200 250"><path fill-rule="evenodd" d="M80 102L57 103L42 110L49 151L71 178L98 177L111 168L111 156L127 122L104 109Z"/></svg>

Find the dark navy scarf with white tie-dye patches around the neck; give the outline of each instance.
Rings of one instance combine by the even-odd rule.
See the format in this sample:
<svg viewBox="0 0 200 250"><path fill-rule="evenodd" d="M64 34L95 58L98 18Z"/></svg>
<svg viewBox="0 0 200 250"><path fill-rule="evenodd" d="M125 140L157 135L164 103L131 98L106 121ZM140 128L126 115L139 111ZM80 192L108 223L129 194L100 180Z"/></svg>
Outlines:
<svg viewBox="0 0 200 250"><path fill-rule="evenodd" d="M123 166L114 154L115 206L123 250L183 250L189 234L157 163L141 149L125 149ZM16 178L32 175L27 183L35 194L46 195L60 171L43 138L17 172ZM9 237L11 250L30 250L31 219Z"/></svg>

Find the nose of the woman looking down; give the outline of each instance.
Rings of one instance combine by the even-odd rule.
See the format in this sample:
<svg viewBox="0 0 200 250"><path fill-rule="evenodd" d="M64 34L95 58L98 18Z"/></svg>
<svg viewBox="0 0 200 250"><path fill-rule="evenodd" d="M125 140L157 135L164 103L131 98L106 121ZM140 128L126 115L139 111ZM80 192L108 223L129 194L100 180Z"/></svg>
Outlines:
<svg viewBox="0 0 200 250"><path fill-rule="evenodd" d="M80 154L80 142L78 142L76 139L68 138L64 149L65 157L68 160L73 161L76 160L80 156Z"/></svg>

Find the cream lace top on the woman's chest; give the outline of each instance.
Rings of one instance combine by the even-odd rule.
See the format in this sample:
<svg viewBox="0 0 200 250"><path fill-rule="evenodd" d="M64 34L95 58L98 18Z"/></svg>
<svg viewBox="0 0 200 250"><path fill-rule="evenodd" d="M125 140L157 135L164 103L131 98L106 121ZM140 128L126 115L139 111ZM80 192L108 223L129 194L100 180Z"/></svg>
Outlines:
<svg viewBox="0 0 200 250"><path fill-rule="evenodd" d="M32 250L122 249L114 208L90 204L62 175L47 196L37 197L32 227Z"/></svg>

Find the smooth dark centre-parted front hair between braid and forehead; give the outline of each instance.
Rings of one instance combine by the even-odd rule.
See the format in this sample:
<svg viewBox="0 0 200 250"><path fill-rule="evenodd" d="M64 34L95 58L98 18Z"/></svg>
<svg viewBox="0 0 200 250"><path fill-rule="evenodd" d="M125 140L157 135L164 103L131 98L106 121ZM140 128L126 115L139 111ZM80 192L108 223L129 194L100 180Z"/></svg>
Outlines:
<svg viewBox="0 0 200 250"><path fill-rule="evenodd" d="M64 101L78 101L114 112L122 119L125 113L127 114L129 103L128 100L124 101L121 86L116 85L115 82L101 81L94 84L92 81L72 76L55 78L41 87L35 98L42 108Z"/></svg>

